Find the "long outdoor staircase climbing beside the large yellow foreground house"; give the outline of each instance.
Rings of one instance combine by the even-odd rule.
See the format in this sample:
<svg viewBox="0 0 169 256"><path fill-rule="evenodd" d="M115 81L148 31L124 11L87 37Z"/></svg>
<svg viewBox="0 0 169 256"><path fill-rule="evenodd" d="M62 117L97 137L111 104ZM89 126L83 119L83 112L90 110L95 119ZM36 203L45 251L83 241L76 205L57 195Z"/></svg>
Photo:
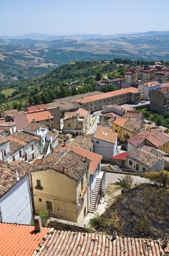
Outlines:
<svg viewBox="0 0 169 256"><path fill-rule="evenodd" d="M96 180L96 184L95 184L93 193L92 193L92 198L91 198L90 207L89 207L88 212L94 213L94 211L95 211L96 204L99 199L99 191L101 188L101 183L102 183L102 179L98 177Z"/></svg>

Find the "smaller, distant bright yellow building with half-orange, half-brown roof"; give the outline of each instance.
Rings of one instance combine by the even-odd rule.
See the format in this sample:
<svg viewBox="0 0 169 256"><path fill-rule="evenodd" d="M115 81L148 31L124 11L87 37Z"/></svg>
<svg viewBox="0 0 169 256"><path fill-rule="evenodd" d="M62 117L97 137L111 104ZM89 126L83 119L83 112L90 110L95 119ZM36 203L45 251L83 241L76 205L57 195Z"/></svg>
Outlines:
<svg viewBox="0 0 169 256"><path fill-rule="evenodd" d="M118 140L125 142L134 137L141 131L144 131L144 126L130 119L115 117L112 122L113 131L118 133Z"/></svg>

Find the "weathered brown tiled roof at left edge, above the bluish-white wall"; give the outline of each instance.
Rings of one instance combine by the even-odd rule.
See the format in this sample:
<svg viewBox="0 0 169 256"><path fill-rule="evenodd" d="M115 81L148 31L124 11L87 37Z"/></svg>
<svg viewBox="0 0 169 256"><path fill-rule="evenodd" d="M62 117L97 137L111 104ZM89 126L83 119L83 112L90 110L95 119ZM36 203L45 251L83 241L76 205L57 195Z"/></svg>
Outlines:
<svg viewBox="0 0 169 256"><path fill-rule="evenodd" d="M24 168L20 169L0 160L0 197L19 181L14 179L15 171L18 172L19 179L22 179L28 173Z"/></svg>

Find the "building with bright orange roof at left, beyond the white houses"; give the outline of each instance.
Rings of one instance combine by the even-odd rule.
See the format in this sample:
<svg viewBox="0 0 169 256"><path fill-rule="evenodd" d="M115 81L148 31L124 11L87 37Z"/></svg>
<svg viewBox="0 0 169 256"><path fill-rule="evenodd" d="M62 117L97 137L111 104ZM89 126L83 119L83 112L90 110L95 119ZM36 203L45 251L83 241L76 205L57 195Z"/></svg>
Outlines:
<svg viewBox="0 0 169 256"><path fill-rule="evenodd" d="M35 111L35 112L28 112L27 113L28 122L37 122L41 125L46 125L50 129L54 129L54 116L48 111Z"/></svg>

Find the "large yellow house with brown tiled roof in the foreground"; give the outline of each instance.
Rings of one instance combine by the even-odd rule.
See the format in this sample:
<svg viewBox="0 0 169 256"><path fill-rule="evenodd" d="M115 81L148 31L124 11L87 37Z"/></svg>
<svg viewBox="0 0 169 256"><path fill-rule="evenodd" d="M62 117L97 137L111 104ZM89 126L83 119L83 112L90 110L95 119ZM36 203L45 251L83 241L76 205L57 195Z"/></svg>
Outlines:
<svg viewBox="0 0 169 256"><path fill-rule="evenodd" d="M35 213L81 223L90 205L90 160L73 151L49 154L31 172Z"/></svg>

